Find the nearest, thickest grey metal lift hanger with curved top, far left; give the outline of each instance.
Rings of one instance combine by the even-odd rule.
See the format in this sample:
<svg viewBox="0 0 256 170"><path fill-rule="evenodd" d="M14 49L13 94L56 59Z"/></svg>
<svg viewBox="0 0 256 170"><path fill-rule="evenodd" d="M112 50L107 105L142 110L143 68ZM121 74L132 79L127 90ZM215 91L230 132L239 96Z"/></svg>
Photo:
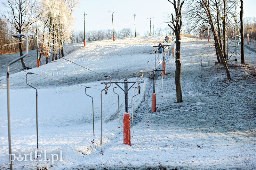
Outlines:
<svg viewBox="0 0 256 170"><path fill-rule="evenodd" d="M16 58L15 60L11 61L7 66L7 73L6 73L6 86L7 86L7 117L8 117L8 143L9 143L9 164L10 164L10 170L12 170L12 144L11 144L11 116L10 116L10 66L15 63L16 61L24 58L28 55L28 36L25 34L18 34L18 35L12 35L15 38L20 38L21 36L25 36L26 38L26 53L19 58Z"/></svg>

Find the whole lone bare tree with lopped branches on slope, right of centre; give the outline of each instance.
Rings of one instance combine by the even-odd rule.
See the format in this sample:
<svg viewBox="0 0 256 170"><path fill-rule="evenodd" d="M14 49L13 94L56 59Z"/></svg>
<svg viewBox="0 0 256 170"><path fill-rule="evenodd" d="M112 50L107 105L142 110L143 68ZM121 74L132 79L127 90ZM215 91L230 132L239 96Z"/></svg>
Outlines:
<svg viewBox="0 0 256 170"><path fill-rule="evenodd" d="M172 20L170 21L172 25L168 24L169 27L172 28L173 32L175 33L175 85L176 85L176 99L177 103L183 102L182 101L182 92L181 92L181 82L180 82L180 75L181 75L181 61L180 61L180 30L182 27L182 17L181 17L181 9L182 5L184 4L184 1L180 3L180 0L178 0L177 4L176 1L173 0L167 0L171 4L173 4L174 10L175 10L175 18L172 14Z"/></svg>

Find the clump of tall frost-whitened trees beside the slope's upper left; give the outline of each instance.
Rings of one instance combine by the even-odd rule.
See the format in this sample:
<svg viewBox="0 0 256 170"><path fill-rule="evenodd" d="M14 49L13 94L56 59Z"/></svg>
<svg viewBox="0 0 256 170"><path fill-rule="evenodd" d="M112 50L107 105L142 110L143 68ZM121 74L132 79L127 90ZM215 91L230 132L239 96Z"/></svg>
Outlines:
<svg viewBox="0 0 256 170"><path fill-rule="evenodd" d="M41 1L44 9L42 15L43 41L52 46L52 60L58 59L58 51L59 58L64 56L63 42L69 43L72 38L72 12L79 3L79 0ZM45 27L48 28L48 32L46 32Z"/></svg>

